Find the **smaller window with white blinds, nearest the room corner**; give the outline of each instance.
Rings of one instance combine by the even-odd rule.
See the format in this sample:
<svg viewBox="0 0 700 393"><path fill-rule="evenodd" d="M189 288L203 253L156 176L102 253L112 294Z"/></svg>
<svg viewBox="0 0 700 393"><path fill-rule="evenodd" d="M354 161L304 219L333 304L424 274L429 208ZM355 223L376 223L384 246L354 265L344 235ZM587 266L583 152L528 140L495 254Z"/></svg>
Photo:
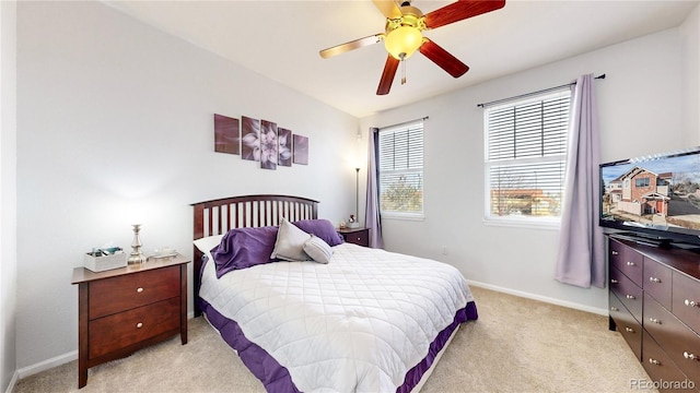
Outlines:
<svg viewBox="0 0 700 393"><path fill-rule="evenodd" d="M378 131L380 213L422 217L423 120Z"/></svg>

